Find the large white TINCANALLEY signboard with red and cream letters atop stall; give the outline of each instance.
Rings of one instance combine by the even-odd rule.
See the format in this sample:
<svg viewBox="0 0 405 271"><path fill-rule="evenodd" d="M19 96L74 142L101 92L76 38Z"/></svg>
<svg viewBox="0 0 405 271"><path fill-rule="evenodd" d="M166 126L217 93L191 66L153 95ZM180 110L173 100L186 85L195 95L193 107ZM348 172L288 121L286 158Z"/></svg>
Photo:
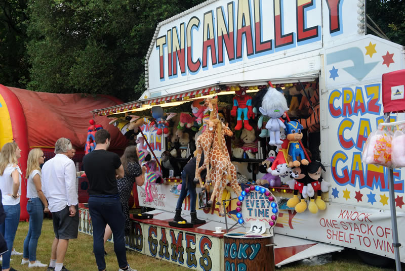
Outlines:
<svg viewBox="0 0 405 271"><path fill-rule="evenodd" d="M362 35L363 2L207 1L158 24L146 56L148 91L141 99L319 70L315 62L289 70L274 65L309 52L319 55L322 44Z"/></svg>

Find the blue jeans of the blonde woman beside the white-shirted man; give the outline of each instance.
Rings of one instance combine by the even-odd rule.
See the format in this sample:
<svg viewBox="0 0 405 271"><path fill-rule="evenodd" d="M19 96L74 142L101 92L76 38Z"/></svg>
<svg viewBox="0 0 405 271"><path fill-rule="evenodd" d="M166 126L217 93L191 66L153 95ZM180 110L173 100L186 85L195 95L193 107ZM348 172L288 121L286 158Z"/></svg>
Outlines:
<svg viewBox="0 0 405 271"><path fill-rule="evenodd" d="M39 236L41 236L42 221L44 220L44 204L39 198L28 200L27 212L29 214L29 229L27 237L24 240L25 259L36 261L36 245L38 244Z"/></svg>

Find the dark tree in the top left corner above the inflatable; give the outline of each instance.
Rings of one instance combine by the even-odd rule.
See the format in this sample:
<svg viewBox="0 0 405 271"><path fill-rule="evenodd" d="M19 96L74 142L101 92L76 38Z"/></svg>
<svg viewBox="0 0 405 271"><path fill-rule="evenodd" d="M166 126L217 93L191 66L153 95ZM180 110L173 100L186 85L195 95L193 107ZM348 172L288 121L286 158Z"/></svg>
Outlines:
<svg viewBox="0 0 405 271"><path fill-rule="evenodd" d="M29 76L25 9L24 0L0 0L0 83L22 88Z"/></svg>

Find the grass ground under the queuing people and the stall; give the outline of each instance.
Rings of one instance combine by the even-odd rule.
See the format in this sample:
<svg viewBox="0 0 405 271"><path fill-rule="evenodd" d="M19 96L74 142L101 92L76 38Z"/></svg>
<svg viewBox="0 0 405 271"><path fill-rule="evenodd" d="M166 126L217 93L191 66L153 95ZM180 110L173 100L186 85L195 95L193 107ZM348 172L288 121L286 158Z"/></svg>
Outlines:
<svg viewBox="0 0 405 271"><path fill-rule="evenodd" d="M28 232L28 223L20 222L17 230L14 247L17 251L23 251L24 238ZM52 220L45 219L42 229L42 235L38 241L37 260L49 264L51 255L51 244L54 238L52 230ZM106 256L107 268L106 270L118 270L117 260L114 254L113 244L107 242L105 250L108 255ZM64 265L72 271L96 271L97 265L94 258L93 251L93 238L89 235L78 234L78 238L71 240L66 253ZM167 261L155 259L135 251L127 251L128 262L132 268L138 271L172 271L172 270L188 270L187 268L180 267L177 264L169 263ZM302 263L291 263L279 268L280 271L320 271L320 270L388 270L364 264L356 255L353 250L344 250L340 253L334 253L333 261L325 265L306 266ZM43 268L28 268L28 265L21 265L22 256L12 256L11 266L16 270L43 270ZM393 266L394 268L395 266ZM45 269L45 268L44 268ZM277 270L278 268L276 268ZM218 271L218 270L213 270ZM259 270L255 270L259 271Z"/></svg>

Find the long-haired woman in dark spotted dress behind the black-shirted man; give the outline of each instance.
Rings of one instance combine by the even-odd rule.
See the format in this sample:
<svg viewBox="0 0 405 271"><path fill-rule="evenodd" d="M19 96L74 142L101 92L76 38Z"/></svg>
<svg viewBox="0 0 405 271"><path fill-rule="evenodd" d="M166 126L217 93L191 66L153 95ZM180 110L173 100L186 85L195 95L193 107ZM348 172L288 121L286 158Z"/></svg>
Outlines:
<svg viewBox="0 0 405 271"><path fill-rule="evenodd" d="M123 211L125 215L125 235L130 234L131 220L130 211L128 207L128 201L131 196L131 192L134 188L134 183L137 186L143 186L145 183L146 167L139 165L138 149L136 146L128 146L123 156L121 156L121 163L124 166L124 178L117 180L119 199L123 205ZM105 227L104 243L111 236L111 228L109 225Z"/></svg>

